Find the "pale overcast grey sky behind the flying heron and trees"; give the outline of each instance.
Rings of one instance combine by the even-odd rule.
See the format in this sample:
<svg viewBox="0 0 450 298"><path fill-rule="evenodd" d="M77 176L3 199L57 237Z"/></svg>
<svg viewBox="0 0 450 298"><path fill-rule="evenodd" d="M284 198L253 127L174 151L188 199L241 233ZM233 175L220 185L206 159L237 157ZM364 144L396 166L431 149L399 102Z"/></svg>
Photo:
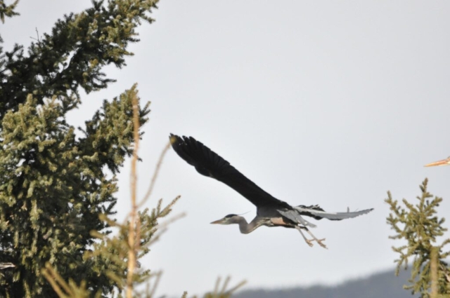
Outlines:
<svg viewBox="0 0 450 298"><path fill-rule="evenodd" d="M21 0L1 27L6 50L49 32L63 13L90 1ZM444 197L450 167L423 168L450 154L449 1L161 1L153 25L117 83L84 97L74 126L101 100L139 83L152 102L141 145L141 194L169 133L192 135L276 198L330 211L375 208L314 230L329 250L300 233L209 223L254 206L199 175L169 151L153 200L182 198L173 224L145 265L163 269L160 294L212 289L231 275L247 287L338 283L393 266L386 191L413 199L418 184ZM129 210L129 166L120 175L119 218ZM449 226L448 222L445 224ZM447 233L449 236L449 233Z"/></svg>

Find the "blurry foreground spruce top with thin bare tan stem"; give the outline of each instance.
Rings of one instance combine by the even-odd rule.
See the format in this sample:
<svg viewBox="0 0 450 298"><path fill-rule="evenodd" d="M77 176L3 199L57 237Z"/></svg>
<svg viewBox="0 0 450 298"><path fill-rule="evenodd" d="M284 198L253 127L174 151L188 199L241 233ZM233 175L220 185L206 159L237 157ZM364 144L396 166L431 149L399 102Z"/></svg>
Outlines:
<svg viewBox="0 0 450 298"><path fill-rule="evenodd" d="M100 242L92 244L92 250L87 250L83 255L83 260L86 264L98 264L101 266L96 267L96 273L98 276L105 276L110 280L110 284L113 287L110 288L112 292L114 288L118 290L118 297L120 292L124 292L125 297L153 297L155 294L155 287L158 286L161 273L150 273L148 269L141 268L138 260L144 257L150 251L150 245L153 245L159 240L162 233L167 231L167 226L172 224L175 220L184 216L184 214L172 217L172 219L158 224L159 219L166 217L172 211L172 207L176 201L179 200L180 196L177 196L169 204L163 206L162 200L159 200L156 207L149 212L148 209L139 210L139 206L136 201L137 194L137 162L139 160L138 150L139 150L139 140L141 137L141 123L143 111L139 107L139 97L138 91L136 89L136 84L132 86L131 89L127 90L123 96L121 96L122 102L129 103L129 110L131 110L131 130L129 133L133 137L133 141L129 143L132 145L132 158L131 158L131 212L127 215L127 220L123 224L117 223L115 220L110 219L110 212L103 212L98 215L98 218L104 222L104 226L115 228L118 230L117 235L110 236L109 232L100 231L93 229L90 231L92 237L98 238ZM109 107L109 106L108 106ZM115 104L115 107L120 107L120 104ZM108 113L105 113L105 116ZM102 118L103 119L103 118ZM104 118L103 120L107 118ZM108 122L108 121L107 121ZM102 123L102 122L100 122ZM89 123L88 123L89 127ZM98 126L91 126L92 128L98 128ZM94 130L86 130L86 135L92 135L96 133ZM105 130L103 130L105 132ZM86 137L87 139L88 137ZM85 139L84 139L85 140ZM81 142L84 142L81 140ZM96 146L94 144L94 146ZM93 156L89 158L82 158L82 160L91 162L100 162L101 158L94 157L101 156L98 151L95 152ZM162 154L162 157L164 154ZM159 161L159 165L162 160ZM157 169L155 172L157 172ZM86 174L87 175L87 174ZM156 175L153 175L156 177ZM153 180L154 182L155 180ZM55 270L46 267L45 278L53 278L51 285L58 292L58 295L63 295L60 297L84 297L76 296L78 293L84 293L82 291L90 291L90 288L84 288L85 283L76 283L69 280L65 282L64 278L59 276L59 273ZM58 283L54 281L54 278L58 274ZM153 283L150 281L153 280ZM50 280L49 280L50 282ZM135 287L138 284L147 283L146 292L138 292ZM67 287L69 288L67 288ZM75 295L76 294L76 295ZM96 292L98 294L98 292ZM101 294L101 292L100 292Z"/></svg>

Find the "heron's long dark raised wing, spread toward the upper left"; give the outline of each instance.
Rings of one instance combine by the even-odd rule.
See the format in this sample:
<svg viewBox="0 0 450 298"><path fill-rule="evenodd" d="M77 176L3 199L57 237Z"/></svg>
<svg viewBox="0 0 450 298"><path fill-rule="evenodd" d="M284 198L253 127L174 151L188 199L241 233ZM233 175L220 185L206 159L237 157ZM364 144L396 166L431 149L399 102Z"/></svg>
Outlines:
<svg viewBox="0 0 450 298"><path fill-rule="evenodd" d="M253 205L261 207L264 205L277 205L280 207L291 208L288 203L274 198L266 191L262 190L257 184L250 181L241 174L228 161L221 158L218 154L198 142L193 137L179 137L170 135L172 147L176 154L183 158L187 163L193 165L195 170L202 175L212 177L228 185L239 194L252 202Z"/></svg>

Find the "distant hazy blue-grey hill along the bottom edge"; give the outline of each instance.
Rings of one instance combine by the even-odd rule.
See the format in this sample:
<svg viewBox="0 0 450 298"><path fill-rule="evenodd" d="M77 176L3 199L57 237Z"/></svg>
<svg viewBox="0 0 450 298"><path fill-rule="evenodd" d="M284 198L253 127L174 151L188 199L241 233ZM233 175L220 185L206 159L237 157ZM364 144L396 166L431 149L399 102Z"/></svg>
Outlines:
<svg viewBox="0 0 450 298"><path fill-rule="evenodd" d="M418 295L412 296L409 290L403 289L410 274L409 271L400 271L399 276L394 276L394 269L391 269L340 285L242 290L233 298L415 298Z"/></svg>

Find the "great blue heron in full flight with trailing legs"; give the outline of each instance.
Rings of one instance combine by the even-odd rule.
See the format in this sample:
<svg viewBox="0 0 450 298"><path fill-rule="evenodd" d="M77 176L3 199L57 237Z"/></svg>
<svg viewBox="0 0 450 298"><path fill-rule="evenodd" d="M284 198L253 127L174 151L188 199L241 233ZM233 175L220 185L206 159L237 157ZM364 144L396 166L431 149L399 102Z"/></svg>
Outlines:
<svg viewBox="0 0 450 298"><path fill-rule="evenodd" d="M313 217L314 219L326 218L330 220L341 220L357 217L373 210L372 208L349 212L347 208L347 212L326 212L319 205L291 206L266 193L257 184L251 182L236 170L228 161L225 161L224 158L221 158L193 137L179 137L178 135L171 134L170 140L175 152L187 163L193 165L197 172L223 182L235 191L238 191L239 194L247 198L257 208L257 216L250 223L244 217L231 214L212 222L212 224L238 224L240 233L250 233L255 231L259 226L293 228L300 231L304 241L309 246L312 246L312 242L316 241L323 248L326 248L326 245L322 242L325 239L319 240L308 229L308 227L314 228L316 225L304 219L302 217L303 215ZM307 239L302 230L309 233L312 239Z"/></svg>

